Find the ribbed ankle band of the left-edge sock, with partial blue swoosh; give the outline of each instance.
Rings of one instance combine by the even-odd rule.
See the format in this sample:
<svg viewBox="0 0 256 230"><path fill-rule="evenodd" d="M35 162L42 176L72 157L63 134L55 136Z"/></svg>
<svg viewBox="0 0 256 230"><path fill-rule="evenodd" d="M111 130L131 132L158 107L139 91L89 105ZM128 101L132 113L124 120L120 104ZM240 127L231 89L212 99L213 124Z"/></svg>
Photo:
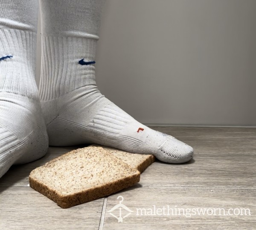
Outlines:
<svg viewBox="0 0 256 230"><path fill-rule="evenodd" d="M0 91L34 98L36 33L0 29Z"/></svg>

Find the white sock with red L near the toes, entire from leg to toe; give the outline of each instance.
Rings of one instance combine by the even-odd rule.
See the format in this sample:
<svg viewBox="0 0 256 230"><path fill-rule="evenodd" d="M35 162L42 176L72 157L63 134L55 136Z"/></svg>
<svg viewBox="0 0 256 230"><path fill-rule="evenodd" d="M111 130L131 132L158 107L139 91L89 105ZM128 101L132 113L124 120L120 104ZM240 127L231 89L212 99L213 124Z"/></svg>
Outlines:
<svg viewBox="0 0 256 230"><path fill-rule="evenodd" d="M96 143L131 153L187 162L193 149L137 122L105 98L95 80L102 0L41 0L40 99L49 144ZM120 95L121 96L121 95Z"/></svg>

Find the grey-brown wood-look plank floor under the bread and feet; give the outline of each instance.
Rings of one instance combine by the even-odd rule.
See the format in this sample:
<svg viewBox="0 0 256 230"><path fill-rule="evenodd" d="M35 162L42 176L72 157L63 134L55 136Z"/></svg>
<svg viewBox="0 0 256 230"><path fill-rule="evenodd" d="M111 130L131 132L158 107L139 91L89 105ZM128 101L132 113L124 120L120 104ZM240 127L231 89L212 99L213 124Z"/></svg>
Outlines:
<svg viewBox="0 0 256 230"><path fill-rule="evenodd" d="M256 128L151 128L191 145L194 159L181 165L155 162L134 187L62 209L29 187L28 176L32 169L81 146L50 147L42 159L13 166L0 179L0 230L256 229ZM133 211L119 223L108 212L119 204L118 196ZM159 209L155 215L154 207ZM141 215L140 208L146 215ZM172 215L175 208L177 215ZM192 213L201 208L208 215ZM236 210L224 216L218 208L225 214ZM250 216L238 215L241 208L250 209ZM118 210L112 213L119 215ZM122 216L126 214L122 209Z"/></svg>

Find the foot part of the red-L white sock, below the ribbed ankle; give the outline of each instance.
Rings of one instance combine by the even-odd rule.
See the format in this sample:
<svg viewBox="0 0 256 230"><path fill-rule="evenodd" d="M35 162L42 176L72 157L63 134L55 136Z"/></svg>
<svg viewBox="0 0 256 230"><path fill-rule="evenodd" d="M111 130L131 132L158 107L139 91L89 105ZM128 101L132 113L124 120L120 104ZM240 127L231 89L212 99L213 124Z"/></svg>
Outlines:
<svg viewBox="0 0 256 230"><path fill-rule="evenodd" d="M96 86L85 86L41 103L50 145L96 143L131 153L154 154L169 163L192 158L189 145L137 122Z"/></svg>

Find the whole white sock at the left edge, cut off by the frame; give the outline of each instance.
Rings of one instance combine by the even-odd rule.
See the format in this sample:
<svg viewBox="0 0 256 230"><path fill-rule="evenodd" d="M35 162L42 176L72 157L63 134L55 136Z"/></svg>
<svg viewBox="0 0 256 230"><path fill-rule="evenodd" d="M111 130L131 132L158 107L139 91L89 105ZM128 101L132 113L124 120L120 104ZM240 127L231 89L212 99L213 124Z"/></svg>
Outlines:
<svg viewBox="0 0 256 230"><path fill-rule="evenodd" d="M48 148L35 83L37 15L34 0L0 1L0 177Z"/></svg>

